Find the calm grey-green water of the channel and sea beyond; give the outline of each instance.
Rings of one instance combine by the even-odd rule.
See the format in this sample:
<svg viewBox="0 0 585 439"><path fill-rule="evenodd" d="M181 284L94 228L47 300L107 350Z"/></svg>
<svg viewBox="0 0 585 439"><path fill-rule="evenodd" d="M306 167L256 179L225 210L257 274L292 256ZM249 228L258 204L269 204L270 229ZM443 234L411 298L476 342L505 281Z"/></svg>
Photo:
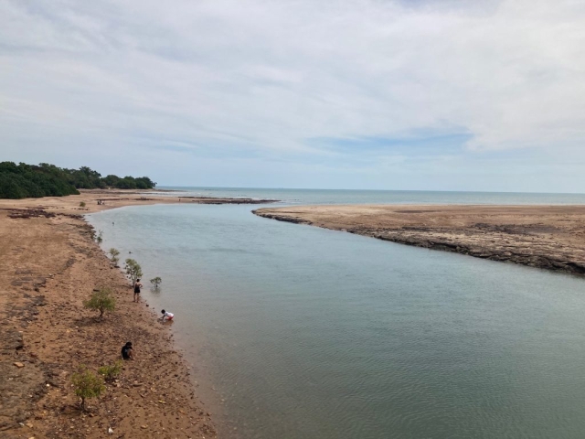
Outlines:
<svg viewBox="0 0 585 439"><path fill-rule="evenodd" d="M585 204L580 194L180 189L281 205ZM104 250L132 252L145 285L163 279L144 298L175 313L220 437L585 437L584 279L262 219L250 213L259 207L86 217Z"/></svg>

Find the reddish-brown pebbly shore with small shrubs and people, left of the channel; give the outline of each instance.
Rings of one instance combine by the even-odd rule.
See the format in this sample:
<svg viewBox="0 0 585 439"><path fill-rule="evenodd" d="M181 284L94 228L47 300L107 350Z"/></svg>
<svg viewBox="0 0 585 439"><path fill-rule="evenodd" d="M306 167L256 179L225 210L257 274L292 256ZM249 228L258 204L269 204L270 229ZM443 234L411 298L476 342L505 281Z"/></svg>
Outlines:
<svg viewBox="0 0 585 439"><path fill-rule="evenodd" d="M171 326L158 324L144 302L133 303L128 281L92 241L80 216L154 203L179 199L90 190L64 198L0 200L0 437L216 437L174 347ZM101 286L112 288L117 298L116 311L102 321L82 306ZM80 364L94 371L111 364L128 340L137 359L126 361L119 380L89 401L89 412L80 412L71 374Z"/></svg>

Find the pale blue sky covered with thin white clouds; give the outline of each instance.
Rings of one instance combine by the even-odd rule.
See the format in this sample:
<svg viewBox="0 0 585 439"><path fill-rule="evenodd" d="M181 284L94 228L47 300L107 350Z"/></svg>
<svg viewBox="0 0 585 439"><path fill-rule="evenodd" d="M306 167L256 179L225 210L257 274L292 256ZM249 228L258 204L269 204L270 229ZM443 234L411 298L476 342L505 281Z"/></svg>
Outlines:
<svg viewBox="0 0 585 439"><path fill-rule="evenodd" d="M581 0L0 0L0 161L585 192Z"/></svg>

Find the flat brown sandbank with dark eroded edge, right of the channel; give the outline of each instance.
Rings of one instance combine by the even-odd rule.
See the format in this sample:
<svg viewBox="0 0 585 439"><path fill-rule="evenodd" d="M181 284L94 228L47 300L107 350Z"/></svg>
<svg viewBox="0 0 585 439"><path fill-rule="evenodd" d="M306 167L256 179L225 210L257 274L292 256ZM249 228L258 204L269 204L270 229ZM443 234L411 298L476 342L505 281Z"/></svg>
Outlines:
<svg viewBox="0 0 585 439"><path fill-rule="evenodd" d="M429 249L585 274L585 206L305 206L265 218Z"/></svg>

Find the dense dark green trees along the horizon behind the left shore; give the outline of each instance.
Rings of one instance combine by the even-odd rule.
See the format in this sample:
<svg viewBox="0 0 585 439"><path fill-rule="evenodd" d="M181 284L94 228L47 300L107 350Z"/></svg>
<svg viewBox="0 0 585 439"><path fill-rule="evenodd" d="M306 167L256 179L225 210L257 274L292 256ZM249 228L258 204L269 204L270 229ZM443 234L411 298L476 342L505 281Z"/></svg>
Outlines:
<svg viewBox="0 0 585 439"><path fill-rule="evenodd" d="M77 189L152 189L156 186L149 177L101 177L88 166L67 169L48 163L0 162L0 198L40 198L78 195Z"/></svg>

